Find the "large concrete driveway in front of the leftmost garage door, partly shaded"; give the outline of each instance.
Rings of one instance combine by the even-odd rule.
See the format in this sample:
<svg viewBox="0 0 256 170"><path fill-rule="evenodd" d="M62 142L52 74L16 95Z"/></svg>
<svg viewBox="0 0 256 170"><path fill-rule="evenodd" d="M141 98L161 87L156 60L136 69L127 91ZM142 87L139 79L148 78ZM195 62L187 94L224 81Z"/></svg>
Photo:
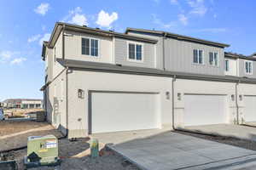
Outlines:
<svg viewBox="0 0 256 170"><path fill-rule="evenodd" d="M93 135L141 169L245 169L256 166L256 152L205 139L148 130Z"/></svg>

